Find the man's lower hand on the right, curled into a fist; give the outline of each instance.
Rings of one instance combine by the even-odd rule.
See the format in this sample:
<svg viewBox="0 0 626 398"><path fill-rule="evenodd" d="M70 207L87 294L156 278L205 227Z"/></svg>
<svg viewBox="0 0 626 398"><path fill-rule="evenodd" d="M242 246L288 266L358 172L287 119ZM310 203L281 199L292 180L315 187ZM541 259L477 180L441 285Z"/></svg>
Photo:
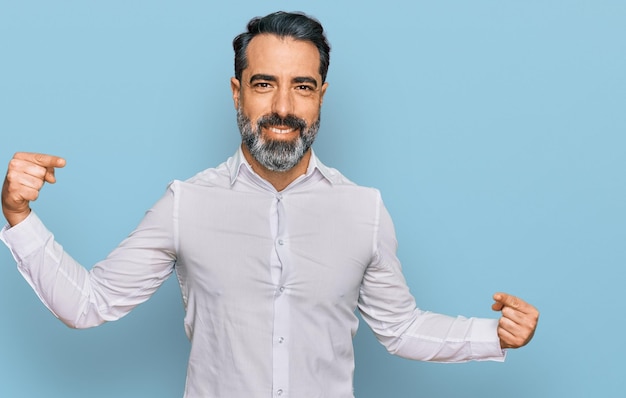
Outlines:
<svg viewBox="0 0 626 398"><path fill-rule="evenodd" d="M502 312L498 323L500 347L519 348L528 344L535 334L539 311L524 300L507 293L493 295L494 311Z"/></svg>

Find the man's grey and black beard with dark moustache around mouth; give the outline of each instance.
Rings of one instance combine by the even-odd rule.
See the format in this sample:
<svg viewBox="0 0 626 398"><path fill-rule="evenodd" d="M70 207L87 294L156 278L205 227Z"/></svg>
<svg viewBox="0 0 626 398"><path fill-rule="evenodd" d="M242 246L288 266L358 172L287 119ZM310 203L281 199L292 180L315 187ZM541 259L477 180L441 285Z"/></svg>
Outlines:
<svg viewBox="0 0 626 398"><path fill-rule="evenodd" d="M250 119L241 108L237 108L237 125L244 145L257 162L270 171L287 171L297 165L311 148L320 126L320 118L310 126L306 121L293 115L284 118L276 113L262 116L252 126ZM294 140L270 140L262 136L262 128L287 126L300 131Z"/></svg>

